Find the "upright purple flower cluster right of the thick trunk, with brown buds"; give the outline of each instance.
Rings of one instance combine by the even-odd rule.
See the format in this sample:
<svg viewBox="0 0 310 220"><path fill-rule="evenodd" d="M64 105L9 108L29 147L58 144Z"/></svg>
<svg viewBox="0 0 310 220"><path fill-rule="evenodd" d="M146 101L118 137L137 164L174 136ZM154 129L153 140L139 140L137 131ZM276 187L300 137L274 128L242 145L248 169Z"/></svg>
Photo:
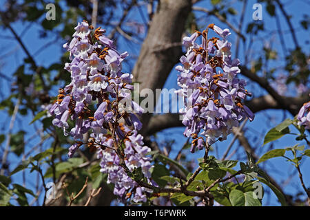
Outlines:
<svg viewBox="0 0 310 220"><path fill-rule="evenodd" d="M200 135L207 137L208 144L213 144L216 138L225 140L231 128L238 126L241 120L254 120L254 114L242 103L251 94L245 89L245 80L236 77L240 73L240 62L231 58L231 43L227 41L231 33L214 24L208 28L221 40L207 39L207 30L186 36L183 45L187 53L180 58L182 65L176 67L180 72L177 92L185 102L185 107L180 109L186 126L184 135L194 138L191 152L196 147L203 148L203 137L198 137L201 130ZM198 36L202 36L201 44L196 43Z"/></svg>

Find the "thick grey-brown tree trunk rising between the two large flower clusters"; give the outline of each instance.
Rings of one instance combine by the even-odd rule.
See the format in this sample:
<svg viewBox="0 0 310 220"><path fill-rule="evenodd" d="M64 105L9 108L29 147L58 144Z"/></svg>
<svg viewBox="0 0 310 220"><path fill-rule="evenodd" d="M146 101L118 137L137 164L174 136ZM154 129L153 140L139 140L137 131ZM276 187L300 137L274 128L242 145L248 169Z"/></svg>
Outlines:
<svg viewBox="0 0 310 220"><path fill-rule="evenodd" d="M149 25L149 32L134 66L134 81L140 83L140 89L162 88L182 50L181 37L185 21L191 12L190 0L164 0ZM142 133L145 133L150 113L144 113Z"/></svg>

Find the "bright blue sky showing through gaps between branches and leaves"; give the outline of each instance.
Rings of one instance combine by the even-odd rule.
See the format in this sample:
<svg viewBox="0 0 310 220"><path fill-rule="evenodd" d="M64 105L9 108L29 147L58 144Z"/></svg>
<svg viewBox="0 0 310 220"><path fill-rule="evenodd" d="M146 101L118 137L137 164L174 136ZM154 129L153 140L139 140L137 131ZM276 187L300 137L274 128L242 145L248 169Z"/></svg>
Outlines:
<svg viewBox="0 0 310 220"><path fill-rule="evenodd" d="M287 12L293 15L292 23L297 25L296 34L298 36L300 45L302 45L302 49L304 50L304 52L307 52L309 54L309 43L307 44L307 41L309 41L309 32L304 32L302 31L302 28L300 28L300 19L301 19L300 14L309 14L309 10L310 10L309 3L306 3L306 1L300 1L300 0L284 1L284 2L285 2L284 3L285 9L287 10ZM251 6L254 3L256 3L256 1L248 1L247 3L245 23L253 21L252 13L254 12L254 10L252 10ZM198 5L205 7L205 8L210 8L209 3L203 2L203 3L199 3ZM232 7L234 7L235 10L240 13L242 5L240 5L239 1L234 1L234 4L232 5ZM269 32L272 32L272 30L276 30L276 23L274 19L271 19L271 17L269 17L267 12L265 11L265 7L263 7L262 13L263 13L262 14L263 21L265 22L265 29L268 31L268 32L265 31L262 33L262 37L263 37L264 34L266 35ZM280 14L280 12L278 13ZM296 16L296 14L298 14L298 16ZM201 12L197 12L196 15L197 17L200 17L203 14ZM142 20L141 16L139 16L139 14L136 12L132 12L131 14L129 14L128 17L136 21ZM218 22L218 20L215 19L214 17L209 17L209 20L206 22L207 23L205 26L207 26L207 24L209 23L216 23L218 26L222 28L227 28L227 25ZM237 22L238 22L238 17L236 18L236 21L234 20L231 21L231 23L233 23L234 25L236 25ZM284 18L282 17L282 14L280 15L280 23L282 25L282 30L289 29L287 27L287 24L285 23ZM27 25L28 25L27 23L17 22L17 23L13 23L12 27L14 28L14 30L17 31L18 34L21 34L23 30L25 30L25 27L27 27ZM40 27L37 24L31 25L28 27L26 32L23 32L23 35L21 36L22 41L25 43L26 47L30 51L30 54L33 54L33 55L36 54L36 52L38 52L38 50L40 50L41 47L45 45L45 43L47 43L47 41L50 41L54 38L54 36L52 36L51 34L51 37L49 39L40 39L39 33L38 33L39 28ZM109 30L107 30L107 33L109 33ZM243 33L245 33L245 28L243 28ZM245 34L245 36L247 36L247 34ZM271 36L273 35L271 34ZM11 77L14 71L17 69L17 67L19 67L19 65L23 63L23 58L25 58L25 53L23 52L23 50L21 50L21 47L18 45L17 41L14 41L14 39L10 39L8 37L12 37L12 34L10 34L8 30L1 30L1 33L0 33L0 50L1 50L0 51L0 72L1 74L6 74L6 76ZM291 39L291 34L285 31L285 34L283 35L283 37L285 41L288 42L287 47L292 49L293 43ZM233 48L232 48L233 54L234 54L235 39L236 39L236 34L231 34L230 41L233 43ZM62 48L63 43L65 42L61 40L56 41L55 43L47 47L45 50L42 50L39 56L34 56L35 61L39 65L43 65L44 67L48 67L50 64L58 62L61 55L64 52ZM274 41L273 41L272 47L278 50L279 56L278 56L278 60L271 62L270 65L274 67L278 67L279 65L282 64L281 60L283 59L283 55L282 55L280 41L276 33L274 34ZM118 41L118 50L120 50L121 52L128 50L130 54L137 55L139 48L140 48L140 45L136 45L134 50L130 50L130 48L128 47L127 43L125 43L125 41L123 40ZM242 52L243 48L244 47L241 44L240 53L239 53L239 58L240 58L241 63L245 61L245 56L249 55L249 54L243 54ZM262 46L260 43L254 42L254 45L252 45L252 48L253 48L252 49L253 54L251 56L254 56L256 58L259 56L262 56L262 54L255 53L256 49L261 50ZM128 66L126 67L126 65L124 65L124 68L126 71L130 70L130 68ZM177 78L177 72L173 70L171 74L169 75L169 78L165 84L165 88L167 89L177 88L176 78ZM1 100L3 98L6 98L10 94L10 83L3 83L3 82L6 82L6 81L1 82L2 83L1 93L3 94L1 95L3 96L1 97ZM59 85L59 87L63 87L63 85ZM263 89L261 89L260 87L258 87L258 85L255 85L254 83L251 83L250 85L248 85L247 89L249 91L252 91L255 97L265 94L265 91L263 91ZM56 95L56 91L57 91L56 89L54 89L53 91L50 91L50 95L51 96ZM295 91L293 88L291 88L291 90L289 91L289 94L295 94ZM292 116L289 115L289 113L284 115L282 111L269 110L269 111L262 111L260 113L256 113L255 120L253 122L247 122L245 126L246 134L250 135L250 138L251 138L250 141L252 144L254 144L253 146L255 148L258 148L258 152L260 152L260 156L264 152L269 150L268 145L262 146L262 141L263 141L263 137L265 133L267 133L267 131L271 129L273 126L276 126L276 124L280 123L285 117L292 118ZM19 131L20 129L30 131L30 134L28 134L28 136L25 137L26 140L28 139L28 137L31 137L35 133L34 127L29 126L29 123L31 122L32 118L33 118L32 115L28 115L27 117L23 117L23 118L18 117L14 125L14 131ZM6 124L9 124L9 122L10 122L10 118L8 118L8 115L6 115L6 113L3 113L3 111L0 111L0 124L3 125L4 133L8 132L8 126L6 126ZM40 125L39 123L36 123L36 124L38 126ZM173 149L172 155L174 155L178 151L178 147L183 146L183 144L186 142L186 138L183 137L183 130L184 130L183 128L167 129L166 131L163 131L158 134L159 142L165 140L165 138L167 137L169 139L174 139L176 141L176 144L174 145L176 146L176 148ZM225 142L220 142L216 144L215 147L217 148L218 155L220 156L223 155L227 146L231 142L231 139L232 139L232 135L229 135L229 138ZM39 141L39 138L35 137L28 144L28 146L34 146L35 144L37 144L38 141ZM1 153L3 152L4 143L5 142L3 142L0 147ZM50 143L47 142L45 143L45 145L43 144L42 148L49 146L48 144ZM294 137L287 135L285 137L282 137L281 140L274 142L273 147L283 148L285 146L292 146L294 144L296 144ZM234 151L236 148L240 148L240 147L242 146L239 146L238 142L236 142L233 148L231 149L230 153ZM27 152L28 149L25 149L25 151ZM38 152L34 152L33 154L36 154L36 153ZM216 155L216 151L211 152L211 155ZM194 153L192 155L189 155L189 158L196 159L202 156L203 156L203 153L199 152L199 153ZM234 157L231 157L231 159L234 159L235 157L236 155ZM246 157L245 154L244 154L244 157ZM19 162L19 159L15 157L14 155L10 154L9 161L12 162L12 164L10 165L10 168L14 168L16 164ZM266 168L271 170L269 172L270 175L273 176L274 179L277 179L279 183L281 181L284 181L287 178L288 174L293 173L293 166L291 166L291 164L289 164L288 162L285 162L284 158L272 159L270 162L267 162L264 165L266 166ZM307 161L302 163L304 181L306 184L308 184L307 186L310 185L310 173L306 171L306 168L309 168L309 167L310 167L310 160L308 159ZM33 181L35 182L37 175L34 175L33 173L32 174L28 173L27 175L31 175L31 177L33 177L32 179L34 179ZM19 174L14 175L13 181L21 183L22 176ZM34 189L34 186L30 183L28 183L28 187ZM291 183L285 187L285 192L290 194L290 193L295 193L297 191L301 191L301 186L300 186L300 182L298 179L298 175L295 172L295 175L293 175L293 179L291 180ZM274 197L273 194L271 193L270 198L263 199L263 204L278 205L279 203L276 201L276 197Z"/></svg>

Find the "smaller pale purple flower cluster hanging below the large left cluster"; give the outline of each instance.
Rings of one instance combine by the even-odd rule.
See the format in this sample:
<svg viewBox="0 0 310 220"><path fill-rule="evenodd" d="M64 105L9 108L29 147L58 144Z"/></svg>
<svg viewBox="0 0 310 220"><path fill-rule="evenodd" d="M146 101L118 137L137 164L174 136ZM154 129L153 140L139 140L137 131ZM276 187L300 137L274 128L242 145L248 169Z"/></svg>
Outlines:
<svg viewBox="0 0 310 220"><path fill-rule="evenodd" d="M124 126L124 129L127 130L127 127ZM101 159L101 172L107 173L107 184L114 184L114 195L117 195L121 201L125 201L128 197L134 195L132 199L134 202L145 202L147 197L143 192L152 192L152 190L149 191L147 188L138 186L136 181L125 173L120 165L120 158L112 149L112 137L103 137L101 144L107 147L105 150L101 149L98 152L98 158ZM124 140L124 144L125 164L130 172L141 168L149 184L155 184L150 179L151 173L149 173L152 165L150 163L151 158L147 157L147 153L150 151L150 148L143 146L143 137L135 131L133 135Z"/></svg>

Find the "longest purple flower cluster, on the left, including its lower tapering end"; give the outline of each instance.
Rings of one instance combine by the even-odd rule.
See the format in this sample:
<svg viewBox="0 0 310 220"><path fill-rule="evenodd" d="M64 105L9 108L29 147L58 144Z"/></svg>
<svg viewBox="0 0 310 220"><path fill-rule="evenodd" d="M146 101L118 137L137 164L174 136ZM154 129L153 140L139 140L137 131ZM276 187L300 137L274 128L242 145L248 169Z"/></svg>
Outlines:
<svg viewBox="0 0 310 220"><path fill-rule="evenodd" d="M52 124L76 140L69 148L69 157L83 144L94 151L99 148L101 171L115 185L115 195L125 198L132 189L134 201L145 201L145 188L138 187L119 164L121 155L130 172L141 168L151 182L152 165L146 156L150 149L143 146L143 137L137 134L142 128L137 115L143 109L132 100L132 75L121 72L127 52L120 54L101 28L94 33L92 29L87 21L79 23L72 41L63 45L70 52L71 62L65 64L65 69L72 80L59 90L50 107ZM71 129L68 120L75 122ZM87 143L82 142L85 133L90 133Z"/></svg>

